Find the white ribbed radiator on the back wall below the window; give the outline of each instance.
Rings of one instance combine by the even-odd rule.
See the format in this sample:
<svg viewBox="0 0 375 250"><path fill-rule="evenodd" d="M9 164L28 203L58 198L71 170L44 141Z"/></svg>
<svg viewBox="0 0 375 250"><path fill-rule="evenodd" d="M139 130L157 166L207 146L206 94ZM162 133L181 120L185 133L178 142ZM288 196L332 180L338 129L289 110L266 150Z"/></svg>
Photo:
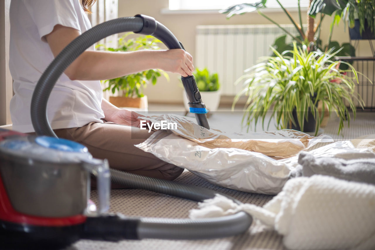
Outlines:
<svg viewBox="0 0 375 250"><path fill-rule="evenodd" d="M283 25L296 34L293 25ZM195 66L216 71L221 94L233 96L242 88L234 82L260 57L270 56L270 45L285 33L276 25L204 25L196 26ZM287 37L288 38L288 37Z"/></svg>

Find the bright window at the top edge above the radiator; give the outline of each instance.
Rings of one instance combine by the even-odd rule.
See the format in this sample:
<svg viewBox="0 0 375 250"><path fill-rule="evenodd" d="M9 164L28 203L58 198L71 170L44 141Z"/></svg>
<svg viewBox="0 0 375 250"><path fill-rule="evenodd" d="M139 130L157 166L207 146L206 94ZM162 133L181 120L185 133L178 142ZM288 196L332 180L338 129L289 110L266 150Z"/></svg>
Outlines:
<svg viewBox="0 0 375 250"><path fill-rule="evenodd" d="M285 8L296 8L297 0L279 0ZM209 10L225 9L231 5L245 3L246 0L169 0L169 10ZM251 2L251 1L248 1ZM309 0L301 0L301 7L308 7ZM267 8L280 8L276 0L267 0Z"/></svg>

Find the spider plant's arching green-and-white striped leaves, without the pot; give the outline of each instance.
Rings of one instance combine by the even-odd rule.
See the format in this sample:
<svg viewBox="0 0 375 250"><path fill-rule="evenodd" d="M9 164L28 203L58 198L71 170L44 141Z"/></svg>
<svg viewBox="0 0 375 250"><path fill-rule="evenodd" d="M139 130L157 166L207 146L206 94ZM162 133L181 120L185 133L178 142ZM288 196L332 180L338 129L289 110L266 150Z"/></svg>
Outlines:
<svg viewBox="0 0 375 250"><path fill-rule="evenodd" d="M321 51L308 52L306 45L298 47L296 42L293 50L279 53L271 47L276 57L265 57L265 61L259 63L245 72L236 83L244 81L244 88L234 99L233 107L240 96L245 94L248 100L245 104L245 112L242 124L246 124L247 130L254 121L255 125L262 122L263 129L266 115L269 111L275 118L278 129L289 128L290 124L304 127L309 112L316 121L315 136L324 117L324 112L336 111L340 119L339 132L344 127L344 121L350 122L350 110L356 117L356 99L361 107L363 100L354 93L354 86L358 82L358 74L353 66L346 62L338 62L333 57L338 53ZM285 54L291 56L286 56ZM338 68L339 63L346 63L347 70ZM351 72L353 74L344 74ZM334 80L334 81L333 81ZM340 82L338 84L337 82ZM323 102L323 110L318 111L318 102ZM347 104L349 108L347 107ZM325 107L328 110L325 110ZM293 118L293 111L297 113L297 120Z"/></svg>

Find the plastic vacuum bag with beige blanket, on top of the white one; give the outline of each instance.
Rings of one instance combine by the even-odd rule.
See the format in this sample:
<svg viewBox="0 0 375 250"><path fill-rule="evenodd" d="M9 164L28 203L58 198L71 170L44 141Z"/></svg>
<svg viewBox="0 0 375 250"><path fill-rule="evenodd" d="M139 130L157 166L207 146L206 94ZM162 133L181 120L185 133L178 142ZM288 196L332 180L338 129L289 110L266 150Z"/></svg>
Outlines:
<svg viewBox="0 0 375 250"><path fill-rule="evenodd" d="M306 150L318 142L333 142L329 136L313 137L296 130L263 131L258 133L226 133L220 130L207 130L186 117L177 114L138 117L160 123L162 120L177 123L177 129L170 131L178 136L196 142L206 148L237 148L259 152L270 157L289 158Z"/></svg>

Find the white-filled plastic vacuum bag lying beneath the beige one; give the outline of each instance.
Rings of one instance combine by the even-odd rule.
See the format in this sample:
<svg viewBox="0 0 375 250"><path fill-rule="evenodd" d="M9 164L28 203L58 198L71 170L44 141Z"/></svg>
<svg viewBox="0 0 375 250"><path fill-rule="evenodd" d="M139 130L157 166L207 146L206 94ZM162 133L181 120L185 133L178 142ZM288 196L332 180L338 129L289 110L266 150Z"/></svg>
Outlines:
<svg viewBox="0 0 375 250"><path fill-rule="evenodd" d="M275 160L244 149L207 148L165 131L157 131L135 146L215 185L252 193L279 193L298 164L297 156ZM334 154L340 148L353 148L353 145L337 142L312 152Z"/></svg>

